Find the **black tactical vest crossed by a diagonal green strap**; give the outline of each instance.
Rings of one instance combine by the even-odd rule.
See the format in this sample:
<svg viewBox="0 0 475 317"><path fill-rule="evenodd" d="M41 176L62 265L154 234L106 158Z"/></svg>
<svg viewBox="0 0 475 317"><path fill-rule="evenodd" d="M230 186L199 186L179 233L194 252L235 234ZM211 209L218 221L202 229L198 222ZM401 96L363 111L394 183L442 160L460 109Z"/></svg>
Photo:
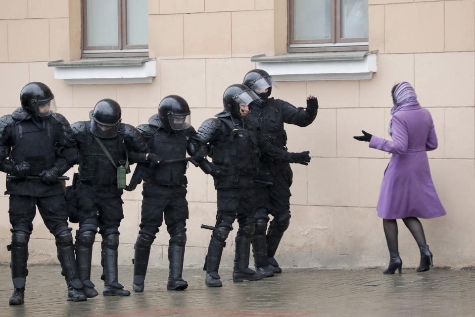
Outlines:
<svg viewBox="0 0 475 317"><path fill-rule="evenodd" d="M101 149L91 132L91 121L86 121L87 144L81 144L79 155L79 179L93 185L117 184L117 169ZM117 136L111 139L100 138L116 166L125 165L127 148L124 144L124 124L121 123Z"/></svg>

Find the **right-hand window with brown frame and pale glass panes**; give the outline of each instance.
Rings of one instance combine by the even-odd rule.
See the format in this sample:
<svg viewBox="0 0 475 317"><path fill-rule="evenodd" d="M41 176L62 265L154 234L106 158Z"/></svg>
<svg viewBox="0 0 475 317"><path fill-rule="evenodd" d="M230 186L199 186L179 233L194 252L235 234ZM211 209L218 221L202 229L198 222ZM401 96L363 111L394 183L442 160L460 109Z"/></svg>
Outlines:
<svg viewBox="0 0 475 317"><path fill-rule="evenodd" d="M288 52L368 49L368 0L289 0Z"/></svg>

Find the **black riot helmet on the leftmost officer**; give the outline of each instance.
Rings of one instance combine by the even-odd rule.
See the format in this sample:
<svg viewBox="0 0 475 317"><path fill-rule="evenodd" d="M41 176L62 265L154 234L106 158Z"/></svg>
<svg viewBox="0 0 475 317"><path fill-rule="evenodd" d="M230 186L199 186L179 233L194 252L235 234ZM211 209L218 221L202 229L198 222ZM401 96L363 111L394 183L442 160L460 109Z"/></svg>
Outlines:
<svg viewBox="0 0 475 317"><path fill-rule="evenodd" d="M20 102L23 111L30 115L45 117L56 111L53 93L47 85L37 81L23 87Z"/></svg>

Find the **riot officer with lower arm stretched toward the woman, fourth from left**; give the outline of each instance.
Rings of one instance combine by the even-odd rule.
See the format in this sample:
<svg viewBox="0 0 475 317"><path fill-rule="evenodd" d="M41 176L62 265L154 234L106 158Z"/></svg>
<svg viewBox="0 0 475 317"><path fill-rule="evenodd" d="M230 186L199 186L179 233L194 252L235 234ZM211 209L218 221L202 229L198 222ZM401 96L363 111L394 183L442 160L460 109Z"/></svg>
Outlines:
<svg viewBox="0 0 475 317"><path fill-rule="evenodd" d="M307 163L308 152L287 153L269 142L265 142L256 126L247 118L249 104L259 102L259 97L241 84L231 85L223 95L224 111L217 118L207 119L193 137L197 146L209 144L213 162L202 160L205 172L214 178L217 190L216 225L211 236L206 256L206 280L209 287L222 286L218 274L221 255L226 238L238 219L236 235L236 256L234 259L233 281L257 280L264 277L249 266L249 249L254 233L254 191L259 154L287 161ZM207 166L206 166L207 165Z"/></svg>

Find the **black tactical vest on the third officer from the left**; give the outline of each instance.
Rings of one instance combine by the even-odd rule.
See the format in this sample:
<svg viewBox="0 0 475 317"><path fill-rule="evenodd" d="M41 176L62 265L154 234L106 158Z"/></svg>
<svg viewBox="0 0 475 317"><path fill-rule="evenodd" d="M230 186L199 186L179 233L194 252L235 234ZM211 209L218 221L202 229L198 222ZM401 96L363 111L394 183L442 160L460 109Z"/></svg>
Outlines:
<svg viewBox="0 0 475 317"><path fill-rule="evenodd" d="M184 159L187 155L188 138L183 132L168 133L164 129L155 129L153 146L150 151L162 160ZM187 184L187 162L164 163L147 169L145 182L162 185Z"/></svg>

